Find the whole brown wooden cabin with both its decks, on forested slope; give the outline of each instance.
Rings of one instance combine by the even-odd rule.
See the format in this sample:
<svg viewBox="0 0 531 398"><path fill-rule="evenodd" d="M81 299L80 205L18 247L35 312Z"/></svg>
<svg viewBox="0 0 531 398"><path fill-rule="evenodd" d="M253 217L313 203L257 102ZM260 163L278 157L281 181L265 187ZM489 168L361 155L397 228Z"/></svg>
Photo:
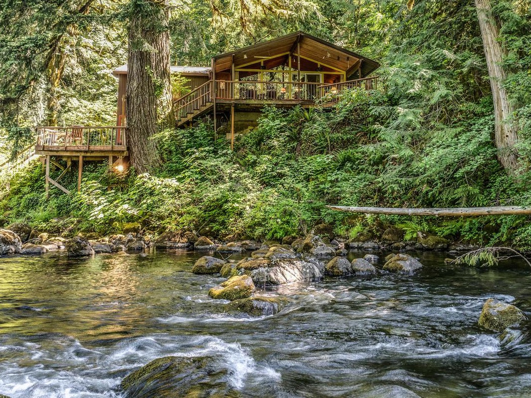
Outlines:
<svg viewBox="0 0 531 398"><path fill-rule="evenodd" d="M177 126L185 128L210 117L214 129L234 145L235 134L253 128L264 105L333 106L342 90L376 89L371 77L380 65L367 57L304 32L235 49L212 58L210 66L172 66L186 79L184 95L174 98ZM108 158L110 168L126 163L125 94L127 65L113 74L118 79L115 126L38 127L35 153L45 157L46 187L68 191L49 174L51 157L78 160L78 189L83 160ZM66 172L67 169L65 169Z"/></svg>

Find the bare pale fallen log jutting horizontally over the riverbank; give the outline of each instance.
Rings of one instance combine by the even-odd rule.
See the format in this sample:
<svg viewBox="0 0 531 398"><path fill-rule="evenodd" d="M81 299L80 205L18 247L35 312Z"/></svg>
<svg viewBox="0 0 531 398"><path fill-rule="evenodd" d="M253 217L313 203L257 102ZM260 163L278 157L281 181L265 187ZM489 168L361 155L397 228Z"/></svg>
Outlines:
<svg viewBox="0 0 531 398"><path fill-rule="evenodd" d="M329 209L349 213L398 214L405 216L492 216L496 214L531 214L531 207L493 206L456 208L398 208L398 207L354 207L327 206Z"/></svg>

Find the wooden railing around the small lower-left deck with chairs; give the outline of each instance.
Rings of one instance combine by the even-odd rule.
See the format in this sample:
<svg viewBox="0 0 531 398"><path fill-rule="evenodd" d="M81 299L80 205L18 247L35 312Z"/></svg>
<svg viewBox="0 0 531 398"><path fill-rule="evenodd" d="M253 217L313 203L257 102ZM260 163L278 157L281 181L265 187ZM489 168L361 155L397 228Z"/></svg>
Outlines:
<svg viewBox="0 0 531 398"><path fill-rule="evenodd" d="M35 129L37 149L113 150L114 147L127 146L124 126L47 126Z"/></svg>

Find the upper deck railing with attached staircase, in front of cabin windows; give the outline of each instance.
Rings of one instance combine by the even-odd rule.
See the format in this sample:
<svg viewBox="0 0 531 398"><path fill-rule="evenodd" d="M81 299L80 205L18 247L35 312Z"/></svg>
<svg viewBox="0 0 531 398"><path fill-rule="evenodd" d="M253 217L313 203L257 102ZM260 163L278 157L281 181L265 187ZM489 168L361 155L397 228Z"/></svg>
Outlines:
<svg viewBox="0 0 531 398"><path fill-rule="evenodd" d="M174 103L177 126L184 125L208 112L215 112L215 104L245 105L262 108L264 105L306 107L322 104L333 106L345 90L375 90L378 77L321 84L281 81L209 80Z"/></svg>

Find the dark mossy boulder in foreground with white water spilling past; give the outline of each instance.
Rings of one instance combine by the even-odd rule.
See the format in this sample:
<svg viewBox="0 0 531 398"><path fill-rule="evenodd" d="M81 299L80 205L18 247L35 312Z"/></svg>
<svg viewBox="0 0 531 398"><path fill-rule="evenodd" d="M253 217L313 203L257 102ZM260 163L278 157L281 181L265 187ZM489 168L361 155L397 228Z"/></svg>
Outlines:
<svg viewBox="0 0 531 398"><path fill-rule="evenodd" d="M220 362L210 357L158 358L127 375L120 387L124 398L237 397Z"/></svg>

